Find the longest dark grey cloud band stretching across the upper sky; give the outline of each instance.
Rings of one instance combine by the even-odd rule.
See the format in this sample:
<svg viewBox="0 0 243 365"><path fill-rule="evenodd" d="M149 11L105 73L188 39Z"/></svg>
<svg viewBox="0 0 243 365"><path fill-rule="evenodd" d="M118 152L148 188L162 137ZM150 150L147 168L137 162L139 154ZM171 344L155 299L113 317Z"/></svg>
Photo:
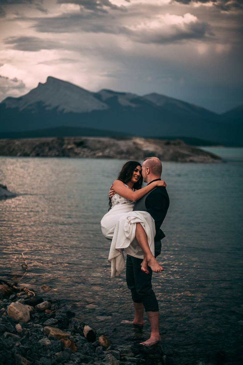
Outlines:
<svg viewBox="0 0 243 365"><path fill-rule="evenodd" d="M126 23L126 16L120 16L119 19L114 14L101 14L90 11L82 13L66 13L56 17L33 18L36 24L34 27L39 32L93 32L126 35L129 39L139 43L157 43L164 44L169 42L179 42L183 39L203 39L212 36L211 27L206 22L199 19L191 22L185 22L183 25L172 24L170 26L161 26L152 29L144 27L143 29L131 28Z"/></svg>

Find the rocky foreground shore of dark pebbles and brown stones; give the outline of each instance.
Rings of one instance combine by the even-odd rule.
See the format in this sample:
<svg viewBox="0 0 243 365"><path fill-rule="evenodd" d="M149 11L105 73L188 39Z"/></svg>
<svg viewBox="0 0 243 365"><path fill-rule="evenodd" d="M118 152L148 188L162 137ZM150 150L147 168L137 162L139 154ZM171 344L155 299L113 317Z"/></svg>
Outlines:
<svg viewBox="0 0 243 365"><path fill-rule="evenodd" d="M0 365L173 365L171 346L114 346L102 328L90 328L70 307L0 283Z"/></svg>

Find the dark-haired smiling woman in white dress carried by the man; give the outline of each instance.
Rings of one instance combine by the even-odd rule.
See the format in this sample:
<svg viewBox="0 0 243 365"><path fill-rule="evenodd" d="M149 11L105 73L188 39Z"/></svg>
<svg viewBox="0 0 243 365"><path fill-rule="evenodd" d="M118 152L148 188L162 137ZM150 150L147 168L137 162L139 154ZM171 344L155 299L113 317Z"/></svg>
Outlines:
<svg viewBox="0 0 243 365"><path fill-rule="evenodd" d="M143 258L141 270L149 273L164 270L154 257L154 220L148 212L133 211L136 200L158 186L166 186L162 180L153 181L141 188L142 166L137 161L128 161L122 167L112 189L115 194L109 198L109 211L101 220L103 235L111 240L109 261L111 277L119 275L125 267L123 249L129 255Z"/></svg>

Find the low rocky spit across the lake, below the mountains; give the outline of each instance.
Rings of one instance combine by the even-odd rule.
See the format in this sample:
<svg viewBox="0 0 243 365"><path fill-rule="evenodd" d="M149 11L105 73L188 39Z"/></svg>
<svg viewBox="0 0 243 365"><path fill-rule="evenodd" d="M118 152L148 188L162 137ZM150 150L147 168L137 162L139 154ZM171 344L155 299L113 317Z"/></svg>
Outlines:
<svg viewBox="0 0 243 365"><path fill-rule="evenodd" d="M0 139L0 155L29 157L83 157L143 160L156 155L162 161L221 162L210 152L181 140L140 137L58 137Z"/></svg>

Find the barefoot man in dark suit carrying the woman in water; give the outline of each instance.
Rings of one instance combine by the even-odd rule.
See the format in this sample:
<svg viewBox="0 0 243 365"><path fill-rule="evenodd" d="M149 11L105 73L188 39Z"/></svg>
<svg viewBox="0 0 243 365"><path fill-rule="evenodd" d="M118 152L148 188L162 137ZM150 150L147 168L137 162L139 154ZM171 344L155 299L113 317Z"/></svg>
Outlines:
<svg viewBox="0 0 243 365"><path fill-rule="evenodd" d="M151 184L153 181L161 180L161 173L162 164L157 157L148 157L145 159L142 164L142 177L145 183ZM113 195L114 191L110 190L109 196L112 197ZM160 226L165 219L168 208L169 196L165 187L156 187L140 200L137 200L133 208L134 211L148 212L154 219L156 229L156 234L154 237L155 257L160 254L161 239L165 237L165 234L160 229ZM136 239L138 243L140 243L140 232L138 225L136 229ZM132 322L124 320L122 323L143 326L143 315L145 308L151 326L151 335L148 340L142 342L141 344L145 346L152 346L160 341L158 302L152 290L152 270L149 267L149 274L146 274L141 270L141 263L141 259L127 255L126 282L132 293L135 315Z"/></svg>

